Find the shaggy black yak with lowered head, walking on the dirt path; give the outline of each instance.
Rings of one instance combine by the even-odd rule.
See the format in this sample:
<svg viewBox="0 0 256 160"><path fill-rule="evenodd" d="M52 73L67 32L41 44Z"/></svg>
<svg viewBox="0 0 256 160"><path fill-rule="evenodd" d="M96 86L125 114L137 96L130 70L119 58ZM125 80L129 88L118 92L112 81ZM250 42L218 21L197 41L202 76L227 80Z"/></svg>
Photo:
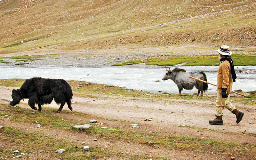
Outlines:
<svg viewBox="0 0 256 160"><path fill-rule="evenodd" d="M28 105L37 110L35 104L38 105L38 112L41 112L41 105L50 104L52 100L60 104L58 113L62 110L65 102L72 111L71 99L73 93L70 85L63 79L45 79L34 77L27 79L20 89L12 90L12 101L10 105L14 106L20 103L21 99L28 98Z"/></svg>

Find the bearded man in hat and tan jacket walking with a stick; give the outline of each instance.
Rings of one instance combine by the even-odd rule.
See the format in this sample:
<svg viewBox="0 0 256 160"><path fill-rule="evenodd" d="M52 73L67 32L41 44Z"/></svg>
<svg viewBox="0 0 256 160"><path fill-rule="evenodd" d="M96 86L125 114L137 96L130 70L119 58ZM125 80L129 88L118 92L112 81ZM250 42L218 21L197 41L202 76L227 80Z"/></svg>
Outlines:
<svg viewBox="0 0 256 160"><path fill-rule="evenodd" d="M231 59L232 52L229 50L229 46L222 45L219 52L220 66L217 76L217 100L216 100L216 118L209 121L212 125L223 125L222 111L227 108L230 112L236 115L236 123L238 124L244 113L237 110L230 102L230 92L232 91L233 82L236 82L236 73L234 69L233 60Z"/></svg>

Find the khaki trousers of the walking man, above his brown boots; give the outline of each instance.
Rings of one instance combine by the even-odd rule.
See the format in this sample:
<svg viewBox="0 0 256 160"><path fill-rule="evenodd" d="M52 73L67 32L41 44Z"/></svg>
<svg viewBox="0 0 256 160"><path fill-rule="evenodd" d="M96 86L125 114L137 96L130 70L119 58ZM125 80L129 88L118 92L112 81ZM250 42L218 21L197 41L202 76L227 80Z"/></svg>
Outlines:
<svg viewBox="0 0 256 160"><path fill-rule="evenodd" d="M227 98L222 98L221 93L217 92L216 116L221 116L224 108L227 108L230 112L236 109L230 102L230 94L228 94Z"/></svg>

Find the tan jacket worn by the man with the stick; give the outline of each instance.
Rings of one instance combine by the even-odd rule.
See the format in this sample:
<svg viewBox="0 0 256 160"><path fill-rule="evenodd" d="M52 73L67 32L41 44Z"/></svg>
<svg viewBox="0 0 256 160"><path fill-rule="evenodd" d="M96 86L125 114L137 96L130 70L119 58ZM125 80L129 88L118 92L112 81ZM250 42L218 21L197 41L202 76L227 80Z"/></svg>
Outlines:
<svg viewBox="0 0 256 160"><path fill-rule="evenodd" d="M220 62L217 76L217 91L221 93L221 87L227 88L228 93L232 91L233 79L231 75L230 64L228 60Z"/></svg>

